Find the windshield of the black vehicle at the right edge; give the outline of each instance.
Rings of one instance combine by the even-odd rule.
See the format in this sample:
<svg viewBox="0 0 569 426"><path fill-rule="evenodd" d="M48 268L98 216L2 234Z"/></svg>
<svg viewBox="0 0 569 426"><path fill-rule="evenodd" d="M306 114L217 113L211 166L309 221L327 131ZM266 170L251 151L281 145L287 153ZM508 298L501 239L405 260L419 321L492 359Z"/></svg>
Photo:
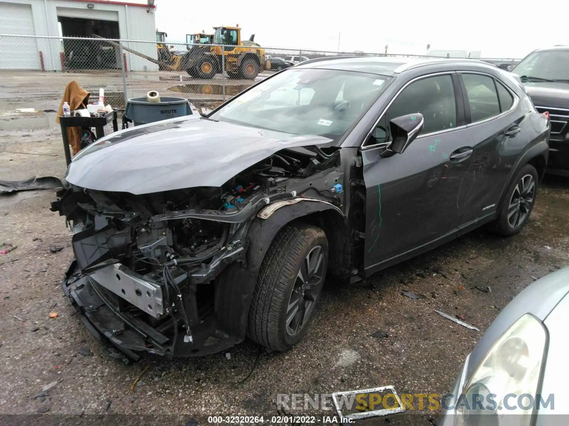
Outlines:
<svg viewBox="0 0 569 426"><path fill-rule="evenodd" d="M539 80L569 81L569 51L541 51L531 53L512 70L518 76ZM530 79L531 80L531 79Z"/></svg>

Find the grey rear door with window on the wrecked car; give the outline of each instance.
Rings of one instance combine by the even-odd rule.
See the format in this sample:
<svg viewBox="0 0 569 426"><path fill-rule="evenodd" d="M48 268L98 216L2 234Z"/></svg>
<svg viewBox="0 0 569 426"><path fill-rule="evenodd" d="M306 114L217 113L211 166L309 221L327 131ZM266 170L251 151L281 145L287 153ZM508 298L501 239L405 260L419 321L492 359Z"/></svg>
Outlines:
<svg viewBox="0 0 569 426"><path fill-rule="evenodd" d="M498 208L517 154L527 140L518 98L489 74L459 73L465 116L474 140L472 162L459 194L461 224L492 214Z"/></svg>

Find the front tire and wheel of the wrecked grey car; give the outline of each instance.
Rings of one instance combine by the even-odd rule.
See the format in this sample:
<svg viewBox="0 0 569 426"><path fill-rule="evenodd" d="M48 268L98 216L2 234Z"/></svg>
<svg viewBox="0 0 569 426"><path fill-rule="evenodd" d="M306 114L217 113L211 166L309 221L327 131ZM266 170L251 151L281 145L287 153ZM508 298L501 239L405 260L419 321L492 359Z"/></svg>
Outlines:
<svg viewBox="0 0 569 426"><path fill-rule="evenodd" d="M298 343L314 314L327 267L328 240L322 229L302 223L281 229L259 269L249 338L278 351Z"/></svg>

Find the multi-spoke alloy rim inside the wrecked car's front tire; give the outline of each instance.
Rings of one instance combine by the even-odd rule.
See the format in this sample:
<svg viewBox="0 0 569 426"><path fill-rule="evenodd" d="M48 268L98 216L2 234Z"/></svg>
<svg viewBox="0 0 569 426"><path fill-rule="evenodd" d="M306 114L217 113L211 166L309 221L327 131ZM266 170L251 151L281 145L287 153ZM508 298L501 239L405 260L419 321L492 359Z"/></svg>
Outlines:
<svg viewBox="0 0 569 426"><path fill-rule="evenodd" d="M298 334L310 318L324 281L323 270L324 253L322 246L316 245L304 258L292 286L285 323L289 336Z"/></svg>

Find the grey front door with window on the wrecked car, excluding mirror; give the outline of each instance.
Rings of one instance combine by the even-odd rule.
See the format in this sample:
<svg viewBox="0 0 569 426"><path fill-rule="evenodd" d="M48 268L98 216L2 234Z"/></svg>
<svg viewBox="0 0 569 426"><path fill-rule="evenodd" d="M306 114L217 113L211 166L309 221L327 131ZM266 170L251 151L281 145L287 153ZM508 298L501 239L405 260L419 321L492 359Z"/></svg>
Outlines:
<svg viewBox="0 0 569 426"><path fill-rule="evenodd" d="M458 99L458 102L457 102ZM389 120L420 112L422 133L402 154L382 158ZM426 76L397 95L362 148L366 185L364 264L381 269L456 229L471 162L470 132L455 73Z"/></svg>

